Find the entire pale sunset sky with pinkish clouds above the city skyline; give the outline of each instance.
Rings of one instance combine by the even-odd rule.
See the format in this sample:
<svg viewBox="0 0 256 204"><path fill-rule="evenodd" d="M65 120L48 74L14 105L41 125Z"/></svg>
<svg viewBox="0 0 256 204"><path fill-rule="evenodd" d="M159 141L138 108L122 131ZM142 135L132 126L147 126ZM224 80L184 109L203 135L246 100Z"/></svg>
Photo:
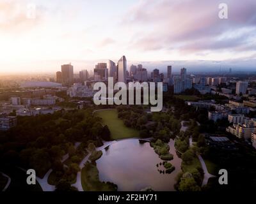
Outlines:
<svg viewBox="0 0 256 204"><path fill-rule="evenodd" d="M78 73L122 55L148 71L255 70L256 1L225 1L228 19L220 3L1 0L0 74L56 73L70 62Z"/></svg>

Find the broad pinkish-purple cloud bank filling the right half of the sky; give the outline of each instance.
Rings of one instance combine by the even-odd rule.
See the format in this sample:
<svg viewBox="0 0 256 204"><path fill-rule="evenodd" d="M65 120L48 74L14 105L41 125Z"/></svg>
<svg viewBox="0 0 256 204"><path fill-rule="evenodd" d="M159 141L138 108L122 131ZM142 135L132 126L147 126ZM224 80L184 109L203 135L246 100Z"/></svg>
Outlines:
<svg viewBox="0 0 256 204"><path fill-rule="evenodd" d="M256 1L227 0L228 19L218 17L220 1L143 0L127 12L122 23L140 27L131 47L141 50L204 50L246 48L255 42ZM234 36L245 30L242 35ZM221 36L225 38L220 39ZM248 46L249 48L249 46Z"/></svg>

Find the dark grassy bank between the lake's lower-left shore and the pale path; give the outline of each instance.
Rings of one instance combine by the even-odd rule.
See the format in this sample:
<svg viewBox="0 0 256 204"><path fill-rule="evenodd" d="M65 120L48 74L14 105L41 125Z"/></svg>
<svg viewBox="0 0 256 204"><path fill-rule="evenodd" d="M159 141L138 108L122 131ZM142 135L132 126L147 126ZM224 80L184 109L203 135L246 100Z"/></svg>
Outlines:
<svg viewBox="0 0 256 204"><path fill-rule="evenodd" d="M92 163L84 164L81 170L81 182L84 191L116 191L117 186L99 180L97 166Z"/></svg>

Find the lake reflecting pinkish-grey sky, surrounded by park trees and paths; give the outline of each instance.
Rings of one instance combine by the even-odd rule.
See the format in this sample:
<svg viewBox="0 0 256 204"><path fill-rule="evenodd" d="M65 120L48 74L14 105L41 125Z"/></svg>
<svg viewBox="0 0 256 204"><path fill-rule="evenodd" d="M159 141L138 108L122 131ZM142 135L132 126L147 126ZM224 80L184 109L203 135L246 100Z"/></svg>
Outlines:
<svg viewBox="0 0 256 204"><path fill-rule="evenodd" d="M164 170L163 162L159 159L149 142L140 143L138 139L125 139L111 144L102 150L102 157L98 159L97 168L101 181L113 182L118 191L140 191L145 187L152 187L155 191L175 191L175 177L180 171L181 159L177 156L174 141L170 140L170 153L175 171L170 174L159 173Z"/></svg>

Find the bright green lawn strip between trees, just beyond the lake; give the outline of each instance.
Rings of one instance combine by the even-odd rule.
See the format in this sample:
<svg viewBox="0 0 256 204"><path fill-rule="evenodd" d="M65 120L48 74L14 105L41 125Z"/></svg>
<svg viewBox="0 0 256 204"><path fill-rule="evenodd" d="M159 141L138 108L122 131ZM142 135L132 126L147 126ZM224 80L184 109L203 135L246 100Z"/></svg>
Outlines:
<svg viewBox="0 0 256 204"><path fill-rule="evenodd" d="M102 123L107 125L110 132L111 138L113 140L123 139L123 138L135 138L139 137L139 131L133 128L127 128L124 125L123 120L118 119L117 110L100 110L95 112L98 117L102 118Z"/></svg>

